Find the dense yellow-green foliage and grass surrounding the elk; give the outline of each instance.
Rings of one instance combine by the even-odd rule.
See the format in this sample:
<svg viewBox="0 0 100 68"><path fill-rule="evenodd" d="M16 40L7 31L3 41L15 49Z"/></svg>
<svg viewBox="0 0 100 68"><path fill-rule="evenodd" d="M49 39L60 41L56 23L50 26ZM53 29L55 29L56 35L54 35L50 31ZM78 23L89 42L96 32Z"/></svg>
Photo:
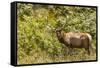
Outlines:
<svg viewBox="0 0 100 68"><path fill-rule="evenodd" d="M66 32L87 32L96 49L96 8L39 4L17 4L18 64L95 60L84 49L72 49L61 44L54 29Z"/></svg>

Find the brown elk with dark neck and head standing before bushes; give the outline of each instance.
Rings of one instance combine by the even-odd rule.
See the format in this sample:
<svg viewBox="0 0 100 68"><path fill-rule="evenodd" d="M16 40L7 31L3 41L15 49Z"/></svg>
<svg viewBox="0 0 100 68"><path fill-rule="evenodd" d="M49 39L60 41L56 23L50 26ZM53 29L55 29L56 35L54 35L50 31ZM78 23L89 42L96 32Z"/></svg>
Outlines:
<svg viewBox="0 0 100 68"><path fill-rule="evenodd" d="M56 29L56 34L60 43L68 48L84 48L90 54L92 37L88 33L65 32L62 29Z"/></svg>

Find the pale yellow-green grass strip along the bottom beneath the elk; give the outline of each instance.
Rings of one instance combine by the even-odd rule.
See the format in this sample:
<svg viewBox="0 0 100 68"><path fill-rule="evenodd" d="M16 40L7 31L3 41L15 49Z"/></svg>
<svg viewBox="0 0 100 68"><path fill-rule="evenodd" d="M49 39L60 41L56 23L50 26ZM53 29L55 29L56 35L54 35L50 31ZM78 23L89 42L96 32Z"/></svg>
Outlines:
<svg viewBox="0 0 100 68"><path fill-rule="evenodd" d="M96 60L96 52L91 52L90 55L84 49L72 49L70 54L52 55L47 54L46 51L33 52L30 56L25 56L18 60L18 64L41 64L41 63L55 63L55 62L73 62L73 61L90 61Z"/></svg>

